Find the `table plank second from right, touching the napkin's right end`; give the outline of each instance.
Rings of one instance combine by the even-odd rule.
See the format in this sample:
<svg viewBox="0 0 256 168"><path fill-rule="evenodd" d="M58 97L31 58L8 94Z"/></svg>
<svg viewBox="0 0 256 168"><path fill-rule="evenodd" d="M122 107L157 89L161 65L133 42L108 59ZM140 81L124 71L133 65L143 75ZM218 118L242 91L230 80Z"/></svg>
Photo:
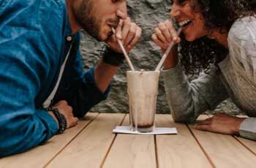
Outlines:
<svg viewBox="0 0 256 168"><path fill-rule="evenodd" d="M156 126L176 127L178 134L157 135L159 167L212 167L184 123L174 123L171 115L157 115Z"/></svg>

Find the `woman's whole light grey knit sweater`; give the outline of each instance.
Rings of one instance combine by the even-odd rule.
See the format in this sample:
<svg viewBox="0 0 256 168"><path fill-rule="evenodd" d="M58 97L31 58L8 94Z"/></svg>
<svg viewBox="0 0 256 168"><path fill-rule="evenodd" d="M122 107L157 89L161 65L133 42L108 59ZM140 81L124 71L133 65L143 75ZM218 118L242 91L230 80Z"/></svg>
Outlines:
<svg viewBox="0 0 256 168"><path fill-rule="evenodd" d="M246 17L233 24L228 34L229 55L201 73L191 83L181 65L162 71L167 102L178 122L195 121L206 110L214 110L230 97L249 118L240 127L241 137L256 140L256 18Z"/></svg>

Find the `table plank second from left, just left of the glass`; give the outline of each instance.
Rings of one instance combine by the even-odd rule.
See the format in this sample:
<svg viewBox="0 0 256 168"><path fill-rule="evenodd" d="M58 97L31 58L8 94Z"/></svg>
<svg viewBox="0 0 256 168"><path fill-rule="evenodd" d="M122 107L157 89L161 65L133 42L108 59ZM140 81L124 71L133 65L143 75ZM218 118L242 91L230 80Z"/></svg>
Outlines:
<svg viewBox="0 0 256 168"><path fill-rule="evenodd" d="M100 167L124 114L99 114L47 167Z"/></svg>

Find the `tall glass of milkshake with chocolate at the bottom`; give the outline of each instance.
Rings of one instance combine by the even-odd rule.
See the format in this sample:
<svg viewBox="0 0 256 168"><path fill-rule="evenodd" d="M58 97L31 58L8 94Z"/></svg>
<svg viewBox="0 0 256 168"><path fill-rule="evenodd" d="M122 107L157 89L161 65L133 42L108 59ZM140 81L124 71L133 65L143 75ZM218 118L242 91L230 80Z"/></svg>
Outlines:
<svg viewBox="0 0 256 168"><path fill-rule="evenodd" d="M128 71L129 119L133 131L154 130L159 71Z"/></svg>

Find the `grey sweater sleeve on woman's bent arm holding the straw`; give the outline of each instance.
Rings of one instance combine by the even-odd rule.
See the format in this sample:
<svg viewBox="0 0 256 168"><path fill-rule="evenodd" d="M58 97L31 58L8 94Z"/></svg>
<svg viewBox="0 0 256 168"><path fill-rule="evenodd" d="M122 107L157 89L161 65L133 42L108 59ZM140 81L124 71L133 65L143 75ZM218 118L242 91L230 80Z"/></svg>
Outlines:
<svg viewBox="0 0 256 168"><path fill-rule="evenodd" d="M212 66L208 74L201 73L191 83L181 64L163 71L167 102L176 122L193 122L206 110L214 110L228 94L219 78L219 70Z"/></svg>

